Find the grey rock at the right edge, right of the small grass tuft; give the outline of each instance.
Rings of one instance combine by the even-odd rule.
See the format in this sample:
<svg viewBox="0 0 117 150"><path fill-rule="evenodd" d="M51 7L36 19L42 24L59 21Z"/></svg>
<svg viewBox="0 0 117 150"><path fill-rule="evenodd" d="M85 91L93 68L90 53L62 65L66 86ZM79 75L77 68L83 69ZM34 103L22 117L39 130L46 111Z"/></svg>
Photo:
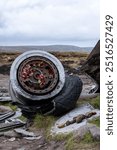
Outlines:
<svg viewBox="0 0 117 150"><path fill-rule="evenodd" d="M95 140L100 140L100 128L94 124L87 123L87 127Z"/></svg>

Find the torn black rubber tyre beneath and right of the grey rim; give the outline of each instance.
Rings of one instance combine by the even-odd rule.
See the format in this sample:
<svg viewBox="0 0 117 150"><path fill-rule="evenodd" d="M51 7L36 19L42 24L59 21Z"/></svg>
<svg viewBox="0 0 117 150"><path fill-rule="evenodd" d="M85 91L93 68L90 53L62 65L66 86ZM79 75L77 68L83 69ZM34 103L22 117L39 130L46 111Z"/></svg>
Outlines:
<svg viewBox="0 0 117 150"><path fill-rule="evenodd" d="M66 76L65 85L62 91L54 98L40 104L32 101L32 104L17 103L26 117L34 116L36 113L60 116L76 106L77 100L82 91L82 81L77 76ZM14 93L12 93L14 96ZM36 101L37 102L37 101ZM45 101L44 101L45 102Z"/></svg>

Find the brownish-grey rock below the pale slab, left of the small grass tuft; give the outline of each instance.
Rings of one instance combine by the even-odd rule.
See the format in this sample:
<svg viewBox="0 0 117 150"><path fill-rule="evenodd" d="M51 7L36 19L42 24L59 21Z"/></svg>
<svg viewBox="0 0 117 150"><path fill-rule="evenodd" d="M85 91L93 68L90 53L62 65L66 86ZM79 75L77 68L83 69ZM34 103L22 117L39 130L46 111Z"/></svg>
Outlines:
<svg viewBox="0 0 117 150"><path fill-rule="evenodd" d="M78 130L74 131L73 135L75 139L81 140L87 132L89 132L89 128L87 125L84 125L81 126Z"/></svg>

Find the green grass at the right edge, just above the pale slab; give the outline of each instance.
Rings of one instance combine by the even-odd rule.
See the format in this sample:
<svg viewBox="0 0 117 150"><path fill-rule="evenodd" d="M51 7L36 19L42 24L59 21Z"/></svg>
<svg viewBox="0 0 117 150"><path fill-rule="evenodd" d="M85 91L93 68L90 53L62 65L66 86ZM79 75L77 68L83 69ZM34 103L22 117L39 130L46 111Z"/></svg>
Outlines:
<svg viewBox="0 0 117 150"><path fill-rule="evenodd" d="M97 96L95 98L91 98L91 99L81 99L78 101L78 105L80 104L86 104L89 103L90 105L92 105L95 109L100 109L100 96Z"/></svg>

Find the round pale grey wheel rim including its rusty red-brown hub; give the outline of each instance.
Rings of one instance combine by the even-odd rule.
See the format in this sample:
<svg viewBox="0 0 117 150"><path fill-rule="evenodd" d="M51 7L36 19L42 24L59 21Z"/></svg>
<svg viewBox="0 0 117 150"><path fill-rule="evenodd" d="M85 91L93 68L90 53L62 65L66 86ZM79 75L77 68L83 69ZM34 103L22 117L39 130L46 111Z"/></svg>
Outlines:
<svg viewBox="0 0 117 150"><path fill-rule="evenodd" d="M10 91L21 102L24 99L39 101L52 98L61 91L64 83L65 73L61 62L47 52L25 52L11 66Z"/></svg>

